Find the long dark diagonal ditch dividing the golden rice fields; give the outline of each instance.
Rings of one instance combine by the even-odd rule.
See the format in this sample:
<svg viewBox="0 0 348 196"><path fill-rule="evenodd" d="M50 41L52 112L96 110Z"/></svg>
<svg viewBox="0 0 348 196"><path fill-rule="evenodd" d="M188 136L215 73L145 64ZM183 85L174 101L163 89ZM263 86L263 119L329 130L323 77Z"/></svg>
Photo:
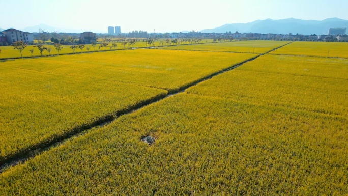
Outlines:
<svg viewBox="0 0 348 196"><path fill-rule="evenodd" d="M292 43L292 42L289 42L289 43ZM276 47L268 52L274 51L274 50L281 48L289 43L286 43L282 46ZM240 63L231 65L230 67L227 67L225 69L221 69L217 72L214 72L214 73L209 74L207 76L204 76L200 79L197 79L195 81L187 83L186 85L184 85L178 89L169 90L169 91L167 91L166 94L156 95L151 99L144 100L144 101L142 101L136 105L133 105L129 108L124 108L124 109L121 109L119 111L116 111L114 114L106 115L105 117L98 119L98 120L96 120L88 125L82 125L79 127L75 127L73 129L67 131L67 133L65 135L57 136L56 138L50 139L50 141L44 141L44 142L38 143L32 147L29 147L28 149L23 149L23 150L19 151L18 153L13 154L13 155L8 156L8 157L1 157L1 159L0 159L0 173L3 173L4 171L8 171L8 169L10 167L15 166L19 163L24 163L25 161L35 157L36 155L41 154L42 152L48 151L49 149L51 149L55 146L59 146L60 144L63 144L64 142L66 142L68 139L77 138L78 135L82 135L81 133L86 133L86 132L88 132L88 130L92 130L93 128L102 127L108 123L111 123L114 120L117 120L119 117L121 117L123 115L131 114L134 111L141 109L145 106L148 106L152 103L161 101L162 99L165 99L167 97L171 97L171 96L176 95L178 93L184 92L186 89L188 89L192 86L195 86L200 82L211 79L214 76L220 75L220 74L225 73L227 71L236 69L237 67L240 67L247 62L253 61L253 60L257 59L258 57L261 57L262 55L267 54L268 52L255 55L255 57L244 60Z"/></svg>

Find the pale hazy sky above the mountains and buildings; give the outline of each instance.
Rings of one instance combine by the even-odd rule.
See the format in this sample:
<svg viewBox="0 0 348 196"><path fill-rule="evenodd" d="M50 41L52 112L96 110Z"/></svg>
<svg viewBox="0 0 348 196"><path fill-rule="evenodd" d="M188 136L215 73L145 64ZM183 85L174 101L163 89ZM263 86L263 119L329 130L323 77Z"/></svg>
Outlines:
<svg viewBox="0 0 348 196"><path fill-rule="evenodd" d="M348 20L348 0L0 0L0 27L49 26L107 32L200 31L258 19Z"/></svg>

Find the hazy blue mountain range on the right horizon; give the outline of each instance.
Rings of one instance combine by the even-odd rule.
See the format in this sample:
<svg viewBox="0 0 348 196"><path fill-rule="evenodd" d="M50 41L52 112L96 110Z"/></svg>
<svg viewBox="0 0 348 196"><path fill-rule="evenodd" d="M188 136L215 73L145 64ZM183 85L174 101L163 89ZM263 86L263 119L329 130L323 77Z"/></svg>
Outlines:
<svg viewBox="0 0 348 196"><path fill-rule="evenodd" d="M348 27L348 20L328 18L325 20L301 20L295 18L281 20L256 20L249 23L224 24L214 29L205 29L202 33L275 33L275 34L328 34L329 28Z"/></svg>

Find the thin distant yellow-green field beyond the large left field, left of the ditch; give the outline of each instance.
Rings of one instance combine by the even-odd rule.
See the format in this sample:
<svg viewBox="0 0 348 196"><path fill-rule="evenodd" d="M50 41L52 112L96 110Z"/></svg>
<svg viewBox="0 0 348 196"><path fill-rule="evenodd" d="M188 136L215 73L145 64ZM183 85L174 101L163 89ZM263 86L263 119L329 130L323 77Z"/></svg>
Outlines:
<svg viewBox="0 0 348 196"><path fill-rule="evenodd" d="M220 52L241 52L241 53L265 53L279 46L290 43L289 41L233 41L216 42L208 44L193 44L163 47L162 49L176 50L197 50L197 51L220 51Z"/></svg>

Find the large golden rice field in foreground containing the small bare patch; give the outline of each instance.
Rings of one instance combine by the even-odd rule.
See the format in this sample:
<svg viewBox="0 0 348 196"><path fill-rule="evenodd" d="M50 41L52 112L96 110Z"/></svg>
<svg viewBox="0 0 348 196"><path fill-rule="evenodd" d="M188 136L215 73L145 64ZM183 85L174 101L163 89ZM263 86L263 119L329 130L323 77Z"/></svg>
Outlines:
<svg viewBox="0 0 348 196"><path fill-rule="evenodd" d="M8 169L0 190L346 195L347 68L342 59L263 55Z"/></svg>

